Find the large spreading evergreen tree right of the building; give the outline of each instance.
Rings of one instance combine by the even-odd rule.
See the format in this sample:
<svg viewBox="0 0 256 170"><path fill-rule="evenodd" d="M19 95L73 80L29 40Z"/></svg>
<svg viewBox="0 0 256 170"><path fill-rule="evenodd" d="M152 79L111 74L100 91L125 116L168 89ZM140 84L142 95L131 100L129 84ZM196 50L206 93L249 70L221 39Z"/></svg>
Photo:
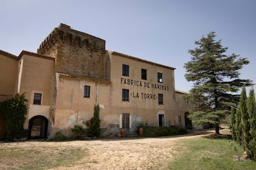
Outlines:
<svg viewBox="0 0 256 170"><path fill-rule="evenodd" d="M215 132L220 134L220 122L228 112L228 105L238 102L239 96L234 92L251 81L239 78L239 70L249 61L236 54L225 55L228 48L214 38L215 32L211 32L195 41L198 47L189 50L192 57L184 68L187 81L194 82L189 97L195 107L190 118L195 125L215 124Z"/></svg>

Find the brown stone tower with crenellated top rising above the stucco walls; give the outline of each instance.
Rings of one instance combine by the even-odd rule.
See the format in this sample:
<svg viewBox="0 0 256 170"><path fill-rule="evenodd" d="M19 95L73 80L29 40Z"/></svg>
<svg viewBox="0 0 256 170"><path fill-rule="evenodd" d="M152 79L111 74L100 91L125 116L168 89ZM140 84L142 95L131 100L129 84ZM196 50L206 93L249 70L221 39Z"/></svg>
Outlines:
<svg viewBox="0 0 256 170"><path fill-rule="evenodd" d="M61 23L41 42L38 54L54 57L58 73L108 79L105 75L105 42Z"/></svg>

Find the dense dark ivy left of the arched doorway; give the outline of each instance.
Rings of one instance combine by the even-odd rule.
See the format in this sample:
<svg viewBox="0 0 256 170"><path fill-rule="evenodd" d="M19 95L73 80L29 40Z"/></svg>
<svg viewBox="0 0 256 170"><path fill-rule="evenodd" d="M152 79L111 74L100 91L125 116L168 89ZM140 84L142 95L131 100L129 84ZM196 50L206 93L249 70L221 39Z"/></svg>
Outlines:
<svg viewBox="0 0 256 170"><path fill-rule="evenodd" d="M23 124L27 114L27 101L24 94L16 94L12 99L0 103L0 113L6 123L6 140L24 137Z"/></svg>

